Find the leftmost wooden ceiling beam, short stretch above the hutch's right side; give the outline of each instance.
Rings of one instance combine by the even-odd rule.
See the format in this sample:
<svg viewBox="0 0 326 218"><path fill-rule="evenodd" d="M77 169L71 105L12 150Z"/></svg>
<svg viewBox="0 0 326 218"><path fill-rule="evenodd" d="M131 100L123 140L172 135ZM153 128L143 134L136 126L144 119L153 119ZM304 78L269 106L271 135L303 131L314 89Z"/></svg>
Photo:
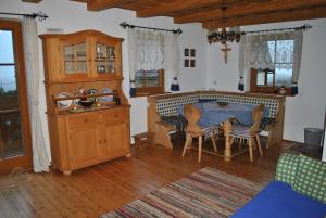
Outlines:
<svg viewBox="0 0 326 218"><path fill-rule="evenodd" d="M125 3L135 2L137 0L92 0L87 3L88 11L101 11L111 8L121 8Z"/></svg>

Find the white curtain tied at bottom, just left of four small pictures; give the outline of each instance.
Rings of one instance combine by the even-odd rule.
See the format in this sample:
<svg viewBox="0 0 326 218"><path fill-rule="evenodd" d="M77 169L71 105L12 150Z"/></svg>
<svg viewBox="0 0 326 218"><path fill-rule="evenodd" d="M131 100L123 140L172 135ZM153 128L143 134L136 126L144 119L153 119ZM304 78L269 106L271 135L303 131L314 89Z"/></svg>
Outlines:
<svg viewBox="0 0 326 218"><path fill-rule="evenodd" d="M173 33L166 33L164 36L164 69L172 73L172 91L179 91L178 84L179 74L179 35Z"/></svg>

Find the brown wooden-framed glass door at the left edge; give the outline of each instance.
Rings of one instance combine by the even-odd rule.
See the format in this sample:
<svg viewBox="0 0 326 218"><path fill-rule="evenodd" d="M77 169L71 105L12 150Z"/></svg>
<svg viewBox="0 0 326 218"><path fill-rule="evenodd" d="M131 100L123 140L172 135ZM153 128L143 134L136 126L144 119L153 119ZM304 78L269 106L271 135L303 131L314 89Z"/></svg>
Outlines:
<svg viewBox="0 0 326 218"><path fill-rule="evenodd" d="M0 174L32 167L21 25L0 21Z"/></svg>

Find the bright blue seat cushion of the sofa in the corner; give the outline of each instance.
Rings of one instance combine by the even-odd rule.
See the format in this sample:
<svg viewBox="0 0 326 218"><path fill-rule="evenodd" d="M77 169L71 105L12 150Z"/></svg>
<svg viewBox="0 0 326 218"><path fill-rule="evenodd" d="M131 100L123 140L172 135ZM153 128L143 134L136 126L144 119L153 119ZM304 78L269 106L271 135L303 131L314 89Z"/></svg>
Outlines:
<svg viewBox="0 0 326 218"><path fill-rule="evenodd" d="M273 181L233 218L324 218L326 204L292 190L284 182Z"/></svg>

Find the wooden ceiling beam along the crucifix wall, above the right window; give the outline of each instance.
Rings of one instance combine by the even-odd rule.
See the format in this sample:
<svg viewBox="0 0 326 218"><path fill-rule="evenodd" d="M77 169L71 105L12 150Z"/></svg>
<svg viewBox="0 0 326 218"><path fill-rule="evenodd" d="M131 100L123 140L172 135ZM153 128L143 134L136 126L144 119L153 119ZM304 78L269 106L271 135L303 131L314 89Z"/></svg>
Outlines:
<svg viewBox="0 0 326 218"><path fill-rule="evenodd" d="M203 22L202 27L206 29L221 28L225 26L247 26L266 23L289 22L311 18L322 18L326 16L326 7L296 10L291 12L274 12L268 14L248 15L222 21Z"/></svg>

